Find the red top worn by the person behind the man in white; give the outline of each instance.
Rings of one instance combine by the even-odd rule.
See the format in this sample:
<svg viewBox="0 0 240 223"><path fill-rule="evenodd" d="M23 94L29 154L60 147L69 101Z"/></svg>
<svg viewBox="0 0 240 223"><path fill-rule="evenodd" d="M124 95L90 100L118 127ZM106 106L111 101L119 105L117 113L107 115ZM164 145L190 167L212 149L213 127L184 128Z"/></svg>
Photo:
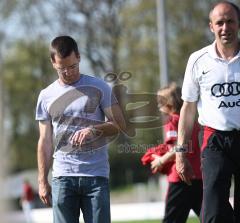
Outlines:
<svg viewBox="0 0 240 223"><path fill-rule="evenodd" d="M165 138L166 144L174 144L177 141L178 122L179 122L179 115L173 114L170 116L169 122L164 125L164 132L165 132L164 138ZM200 170L200 148L198 143L199 130L200 130L199 125L196 123L192 133L192 142L191 142L192 152L187 154L187 158L193 168L193 172L195 174L196 179L202 179L202 173ZM172 183L181 181L176 171L175 162L172 165L171 170L169 171L168 181Z"/></svg>

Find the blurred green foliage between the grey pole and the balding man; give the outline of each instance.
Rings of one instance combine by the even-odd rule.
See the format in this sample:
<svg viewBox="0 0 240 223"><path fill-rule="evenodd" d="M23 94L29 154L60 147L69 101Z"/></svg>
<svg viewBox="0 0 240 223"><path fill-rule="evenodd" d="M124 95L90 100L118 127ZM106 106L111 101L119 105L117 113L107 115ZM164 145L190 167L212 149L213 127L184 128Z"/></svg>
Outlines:
<svg viewBox="0 0 240 223"><path fill-rule="evenodd" d="M182 4L183 3L183 4ZM182 82L189 55L210 44L208 12L211 1L167 1L170 79Z"/></svg>

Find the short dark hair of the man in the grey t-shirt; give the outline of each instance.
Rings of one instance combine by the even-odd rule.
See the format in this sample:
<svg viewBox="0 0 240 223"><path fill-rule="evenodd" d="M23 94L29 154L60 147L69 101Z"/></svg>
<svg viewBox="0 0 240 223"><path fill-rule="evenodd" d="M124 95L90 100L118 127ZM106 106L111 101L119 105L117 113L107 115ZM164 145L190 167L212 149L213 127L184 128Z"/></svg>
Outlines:
<svg viewBox="0 0 240 223"><path fill-rule="evenodd" d="M77 42L70 36L58 36L52 40L50 44L50 57L55 61L55 55L65 58L74 52L76 56L80 56Z"/></svg>

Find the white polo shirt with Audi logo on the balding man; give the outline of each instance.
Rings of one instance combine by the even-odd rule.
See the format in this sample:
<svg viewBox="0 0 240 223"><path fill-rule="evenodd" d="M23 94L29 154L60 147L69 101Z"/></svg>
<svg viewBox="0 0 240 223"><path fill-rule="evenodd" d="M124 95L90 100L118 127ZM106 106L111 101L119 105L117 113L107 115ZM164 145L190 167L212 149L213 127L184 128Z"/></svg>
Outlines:
<svg viewBox="0 0 240 223"><path fill-rule="evenodd" d="M230 61L212 45L189 57L182 99L196 102L199 123L214 129L240 130L240 52Z"/></svg>

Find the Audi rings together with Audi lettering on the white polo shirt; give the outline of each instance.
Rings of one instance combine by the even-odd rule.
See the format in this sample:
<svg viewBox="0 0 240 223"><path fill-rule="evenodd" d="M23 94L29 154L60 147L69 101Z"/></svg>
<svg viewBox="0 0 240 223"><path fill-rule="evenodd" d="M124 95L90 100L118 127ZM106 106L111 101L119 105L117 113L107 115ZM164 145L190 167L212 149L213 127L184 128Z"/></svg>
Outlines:
<svg viewBox="0 0 240 223"><path fill-rule="evenodd" d="M240 95L240 82L224 82L217 83L211 87L212 96L220 98L220 97L229 97L229 96L237 96ZM240 99L234 101L226 101L222 100L218 106L218 108L234 108L240 107Z"/></svg>

